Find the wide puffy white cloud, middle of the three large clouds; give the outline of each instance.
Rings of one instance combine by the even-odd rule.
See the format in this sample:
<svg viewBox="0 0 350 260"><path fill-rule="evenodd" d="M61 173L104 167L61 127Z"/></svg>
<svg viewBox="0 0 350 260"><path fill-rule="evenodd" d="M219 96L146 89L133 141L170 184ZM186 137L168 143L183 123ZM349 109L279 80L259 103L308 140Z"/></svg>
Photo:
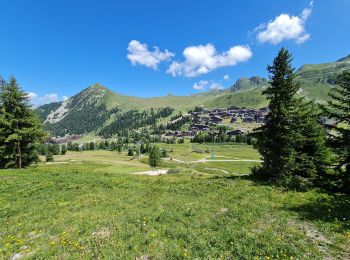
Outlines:
<svg viewBox="0 0 350 260"><path fill-rule="evenodd" d="M237 45L228 51L218 54L214 45L190 46L184 49L183 62L173 61L167 73L175 76L196 77L207 74L215 69L226 66L234 66L239 62L244 62L252 57L252 52L248 46Z"/></svg>

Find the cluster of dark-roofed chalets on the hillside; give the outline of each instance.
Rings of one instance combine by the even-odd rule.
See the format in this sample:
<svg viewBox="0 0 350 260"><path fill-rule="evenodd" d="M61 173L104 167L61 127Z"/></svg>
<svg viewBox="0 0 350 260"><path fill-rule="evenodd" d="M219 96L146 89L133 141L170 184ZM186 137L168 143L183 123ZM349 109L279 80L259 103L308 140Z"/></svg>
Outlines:
<svg viewBox="0 0 350 260"><path fill-rule="evenodd" d="M230 123L258 123L265 122L265 116L269 113L269 108L252 109L245 107L232 106L227 109L201 109L200 111L191 112L184 116L191 117L191 124L186 131L168 131L165 136L168 137L192 137L197 132L210 131L211 126L221 125L223 120L229 119ZM243 134L243 129L227 131L228 135Z"/></svg>

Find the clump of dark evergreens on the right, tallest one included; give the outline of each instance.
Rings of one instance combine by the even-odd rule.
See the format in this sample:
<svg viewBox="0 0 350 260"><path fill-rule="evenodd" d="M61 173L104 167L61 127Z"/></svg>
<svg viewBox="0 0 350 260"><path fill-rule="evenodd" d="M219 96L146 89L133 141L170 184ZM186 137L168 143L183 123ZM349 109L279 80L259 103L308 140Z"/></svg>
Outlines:
<svg viewBox="0 0 350 260"><path fill-rule="evenodd" d="M268 66L266 123L253 133L263 163L253 172L298 190L350 191L350 72L336 76L331 101L320 107L300 97L292 55L284 48ZM322 116L334 120L325 126ZM327 130L331 129L331 130Z"/></svg>

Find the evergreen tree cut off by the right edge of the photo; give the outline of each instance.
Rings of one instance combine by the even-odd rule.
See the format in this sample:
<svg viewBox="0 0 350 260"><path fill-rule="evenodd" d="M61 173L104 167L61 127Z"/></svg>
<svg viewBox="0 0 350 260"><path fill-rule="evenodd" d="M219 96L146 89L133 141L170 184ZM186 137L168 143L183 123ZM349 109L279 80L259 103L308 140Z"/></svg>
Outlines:
<svg viewBox="0 0 350 260"><path fill-rule="evenodd" d="M326 112L336 122L329 132L331 147L337 155L337 169L343 181L343 190L350 191L350 71L336 77Z"/></svg>

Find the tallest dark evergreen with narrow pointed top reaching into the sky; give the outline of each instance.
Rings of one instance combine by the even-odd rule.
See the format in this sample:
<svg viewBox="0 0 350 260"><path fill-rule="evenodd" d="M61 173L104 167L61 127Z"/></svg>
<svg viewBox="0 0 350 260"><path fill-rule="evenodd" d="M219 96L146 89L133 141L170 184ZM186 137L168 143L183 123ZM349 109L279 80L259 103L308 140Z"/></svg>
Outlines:
<svg viewBox="0 0 350 260"><path fill-rule="evenodd" d="M294 82L292 55L282 48L268 66L270 86L263 94L269 101L266 124L255 131L258 151L262 156L262 172L267 179L281 179L291 157L291 120L289 111L299 84Z"/></svg>

